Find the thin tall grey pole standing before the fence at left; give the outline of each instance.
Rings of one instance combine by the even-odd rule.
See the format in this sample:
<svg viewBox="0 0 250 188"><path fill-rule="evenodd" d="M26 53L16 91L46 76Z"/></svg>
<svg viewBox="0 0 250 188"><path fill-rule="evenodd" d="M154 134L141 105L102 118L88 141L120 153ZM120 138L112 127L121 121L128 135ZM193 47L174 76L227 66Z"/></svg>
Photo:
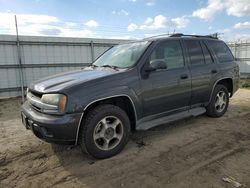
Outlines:
<svg viewBox="0 0 250 188"><path fill-rule="evenodd" d="M19 41L19 35L18 35L16 15L15 15L15 25L16 25L17 56L18 56L18 64L19 64L19 78L21 82L22 102L24 102L24 81L23 81L23 70L22 70L22 58L21 58L21 49L20 49L20 41Z"/></svg>

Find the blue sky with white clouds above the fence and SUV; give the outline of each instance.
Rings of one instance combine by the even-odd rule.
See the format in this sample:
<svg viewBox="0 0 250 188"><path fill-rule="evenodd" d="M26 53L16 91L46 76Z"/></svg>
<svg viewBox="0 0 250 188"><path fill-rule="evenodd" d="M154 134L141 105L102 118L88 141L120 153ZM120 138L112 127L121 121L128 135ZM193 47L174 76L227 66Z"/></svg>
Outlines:
<svg viewBox="0 0 250 188"><path fill-rule="evenodd" d="M250 40L250 0L0 0L0 34L137 39L219 33Z"/></svg>

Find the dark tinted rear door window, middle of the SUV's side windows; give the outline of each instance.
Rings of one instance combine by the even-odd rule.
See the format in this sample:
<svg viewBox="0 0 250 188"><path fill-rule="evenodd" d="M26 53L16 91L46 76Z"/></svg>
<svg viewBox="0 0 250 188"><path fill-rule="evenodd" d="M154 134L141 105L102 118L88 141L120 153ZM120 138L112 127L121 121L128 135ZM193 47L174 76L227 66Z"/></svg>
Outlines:
<svg viewBox="0 0 250 188"><path fill-rule="evenodd" d="M185 42L187 44L191 65L205 64L200 41L187 40Z"/></svg>

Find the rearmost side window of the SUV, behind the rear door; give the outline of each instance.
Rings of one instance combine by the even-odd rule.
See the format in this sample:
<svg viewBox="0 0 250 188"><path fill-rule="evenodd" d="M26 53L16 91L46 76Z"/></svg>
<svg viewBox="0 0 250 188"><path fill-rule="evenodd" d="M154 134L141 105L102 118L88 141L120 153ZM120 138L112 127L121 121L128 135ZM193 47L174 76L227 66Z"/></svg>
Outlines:
<svg viewBox="0 0 250 188"><path fill-rule="evenodd" d="M214 51L220 63L230 62L234 57L228 46L221 41L208 41L209 47Z"/></svg>

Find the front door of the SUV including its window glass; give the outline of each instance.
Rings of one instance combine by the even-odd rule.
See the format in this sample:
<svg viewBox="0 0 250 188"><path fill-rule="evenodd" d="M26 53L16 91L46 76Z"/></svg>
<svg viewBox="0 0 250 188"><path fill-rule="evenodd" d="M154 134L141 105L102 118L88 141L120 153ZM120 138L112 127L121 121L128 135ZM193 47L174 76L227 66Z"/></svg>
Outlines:
<svg viewBox="0 0 250 188"><path fill-rule="evenodd" d="M158 43L148 63L154 60L164 61L167 68L152 71L142 79L143 116L187 108L191 98L191 76L180 40Z"/></svg>

